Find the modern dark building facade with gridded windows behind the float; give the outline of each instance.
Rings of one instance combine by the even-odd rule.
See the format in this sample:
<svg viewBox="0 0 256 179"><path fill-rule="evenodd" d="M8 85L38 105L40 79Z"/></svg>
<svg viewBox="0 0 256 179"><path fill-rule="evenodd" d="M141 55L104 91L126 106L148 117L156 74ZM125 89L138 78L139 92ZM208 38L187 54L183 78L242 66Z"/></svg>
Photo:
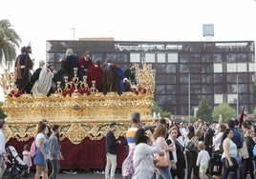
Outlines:
<svg viewBox="0 0 256 179"><path fill-rule="evenodd" d="M145 58L157 70L155 101L175 115L193 115L203 96L211 107L225 102L239 113L256 104L254 41L49 40L47 61L60 69L69 48L79 56L90 50L93 60L111 58L123 70Z"/></svg>

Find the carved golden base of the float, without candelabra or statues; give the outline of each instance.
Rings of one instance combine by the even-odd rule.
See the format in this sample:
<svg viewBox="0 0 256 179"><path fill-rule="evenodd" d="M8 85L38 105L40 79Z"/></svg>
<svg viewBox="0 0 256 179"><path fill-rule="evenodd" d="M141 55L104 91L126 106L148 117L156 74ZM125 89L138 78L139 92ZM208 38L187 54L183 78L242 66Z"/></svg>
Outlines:
<svg viewBox="0 0 256 179"><path fill-rule="evenodd" d="M59 93L50 97L32 97L29 94L17 98L8 96L3 106L8 115L7 140L28 141L34 137L36 125L42 119L46 119L50 126L59 125L60 140L68 138L73 144L81 143L85 137L102 139L112 122L117 122L116 136L124 136L132 112L138 111L145 123L152 121L152 100L152 93L137 95L134 92L122 95L96 92L90 96L74 93L72 97L63 97Z"/></svg>

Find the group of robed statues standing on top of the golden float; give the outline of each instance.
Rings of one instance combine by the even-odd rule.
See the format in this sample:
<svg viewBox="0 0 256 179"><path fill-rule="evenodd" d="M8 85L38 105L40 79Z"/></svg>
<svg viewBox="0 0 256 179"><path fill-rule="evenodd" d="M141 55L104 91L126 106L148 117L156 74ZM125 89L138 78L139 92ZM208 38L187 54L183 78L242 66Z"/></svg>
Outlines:
<svg viewBox="0 0 256 179"><path fill-rule="evenodd" d="M30 53L32 53L31 47L23 47L15 61L17 74L15 85L18 89L16 96L22 93L50 95L56 91L57 82L60 82L61 89L65 89L65 78L74 81L76 77L78 82L86 82L89 89L95 86L96 91L104 94L110 91L121 94L131 89L131 82L136 82L135 64L122 70L110 58L105 59L104 62L93 61L90 51L85 51L81 57L78 57L72 49L66 50L60 70L54 70L53 64L46 65L44 60L40 60L39 68L32 72L34 61ZM78 89L82 88L78 86Z"/></svg>

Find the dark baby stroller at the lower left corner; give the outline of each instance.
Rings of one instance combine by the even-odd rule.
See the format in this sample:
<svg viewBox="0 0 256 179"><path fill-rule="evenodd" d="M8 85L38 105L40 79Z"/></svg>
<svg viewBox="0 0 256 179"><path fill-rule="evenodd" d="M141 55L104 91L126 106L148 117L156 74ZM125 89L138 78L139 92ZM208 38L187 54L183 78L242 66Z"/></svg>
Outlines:
<svg viewBox="0 0 256 179"><path fill-rule="evenodd" d="M21 160L16 149L10 146L6 149L9 159L11 159L11 167L4 172L3 178L26 178L29 176L28 166Z"/></svg>

